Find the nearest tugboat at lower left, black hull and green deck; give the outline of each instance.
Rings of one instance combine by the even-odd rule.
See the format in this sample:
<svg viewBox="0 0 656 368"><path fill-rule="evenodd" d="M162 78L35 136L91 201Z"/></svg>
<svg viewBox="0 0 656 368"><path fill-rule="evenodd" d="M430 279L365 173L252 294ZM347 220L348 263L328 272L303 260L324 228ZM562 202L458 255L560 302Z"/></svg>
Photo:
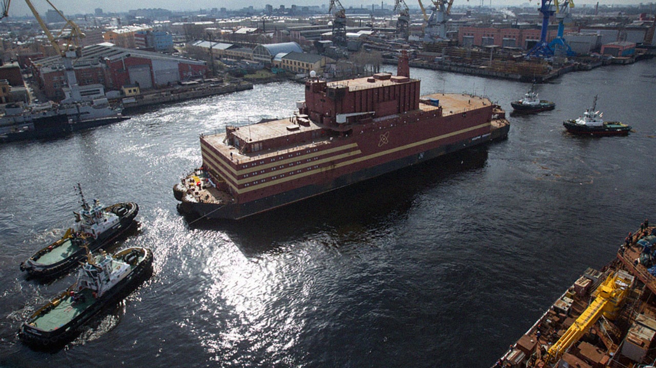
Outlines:
<svg viewBox="0 0 656 368"><path fill-rule="evenodd" d="M79 333L79 327L112 302L126 297L152 274L153 253L135 247L108 255L93 256L87 249L87 261L77 281L41 306L20 327L18 337L35 348L63 346Z"/></svg>

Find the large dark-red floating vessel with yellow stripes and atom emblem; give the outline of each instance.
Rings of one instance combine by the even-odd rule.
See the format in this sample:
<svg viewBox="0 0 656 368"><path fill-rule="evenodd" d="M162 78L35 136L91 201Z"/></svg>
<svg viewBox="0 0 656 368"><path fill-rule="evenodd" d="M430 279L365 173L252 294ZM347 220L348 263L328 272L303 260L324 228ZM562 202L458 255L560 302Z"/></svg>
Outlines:
<svg viewBox="0 0 656 368"><path fill-rule="evenodd" d="M311 73L293 117L201 136L203 165L173 188L178 210L241 219L507 136L499 105L420 96L409 75L405 52L397 75L327 83Z"/></svg>

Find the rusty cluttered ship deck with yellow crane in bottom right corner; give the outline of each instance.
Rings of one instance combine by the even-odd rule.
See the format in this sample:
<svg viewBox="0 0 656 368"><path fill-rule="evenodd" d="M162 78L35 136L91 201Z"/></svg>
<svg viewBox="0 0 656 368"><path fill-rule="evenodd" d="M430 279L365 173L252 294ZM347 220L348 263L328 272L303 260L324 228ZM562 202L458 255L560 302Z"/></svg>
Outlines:
<svg viewBox="0 0 656 368"><path fill-rule="evenodd" d="M588 268L493 368L653 367L656 229L646 221L601 270Z"/></svg>

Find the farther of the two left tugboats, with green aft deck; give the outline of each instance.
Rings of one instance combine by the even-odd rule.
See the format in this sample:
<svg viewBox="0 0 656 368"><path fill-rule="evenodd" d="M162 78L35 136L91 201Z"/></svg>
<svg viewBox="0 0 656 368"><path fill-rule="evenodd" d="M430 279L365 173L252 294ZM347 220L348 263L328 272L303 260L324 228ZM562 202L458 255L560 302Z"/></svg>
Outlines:
<svg viewBox="0 0 656 368"><path fill-rule="evenodd" d="M131 229L139 206L122 202L103 208L97 199L90 206L77 184L82 206L75 214L75 224L66 230L61 239L34 253L20 264L20 270L36 278L56 278L79 265L87 253L112 244L121 234Z"/></svg>

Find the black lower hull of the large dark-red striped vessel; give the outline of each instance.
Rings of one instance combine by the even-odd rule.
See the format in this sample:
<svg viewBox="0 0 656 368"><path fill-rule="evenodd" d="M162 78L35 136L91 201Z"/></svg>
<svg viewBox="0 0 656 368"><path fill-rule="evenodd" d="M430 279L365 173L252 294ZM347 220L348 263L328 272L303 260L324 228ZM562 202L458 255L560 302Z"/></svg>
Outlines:
<svg viewBox="0 0 656 368"><path fill-rule="evenodd" d="M279 193L273 196L262 198L260 200L254 200L243 204L227 204L220 206L211 203L191 202L184 198L186 194L181 192L179 186L174 187L173 192L176 198L180 197L182 199L182 202L178 204L178 211L181 213L195 217L206 217L209 219L241 219L249 215L254 215L255 213L266 212L274 208L285 206L286 204L298 202L299 200L303 200L305 198L310 198L312 196L346 187L348 185L358 183L359 181L377 177L382 174L387 174L407 166L418 164L419 162L424 162L426 160L446 155L448 153L461 151L462 149L466 149L468 147L474 147L476 145L487 143L493 139L505 138L508 135L508 130L510 130L510 125L499 128L495 130L493 135L491 134L484 138L476 140L466 139L451 145L443 145L436 149L421 153L420 155L405 156L403 158L398 158L397 160L392 160L390 162L385 162L384 164L360 170L358 172L342 175L327 183L322 183L320 185L307 185L305 187L300 187L298 189L293 189L291 191Z"/></svg>

